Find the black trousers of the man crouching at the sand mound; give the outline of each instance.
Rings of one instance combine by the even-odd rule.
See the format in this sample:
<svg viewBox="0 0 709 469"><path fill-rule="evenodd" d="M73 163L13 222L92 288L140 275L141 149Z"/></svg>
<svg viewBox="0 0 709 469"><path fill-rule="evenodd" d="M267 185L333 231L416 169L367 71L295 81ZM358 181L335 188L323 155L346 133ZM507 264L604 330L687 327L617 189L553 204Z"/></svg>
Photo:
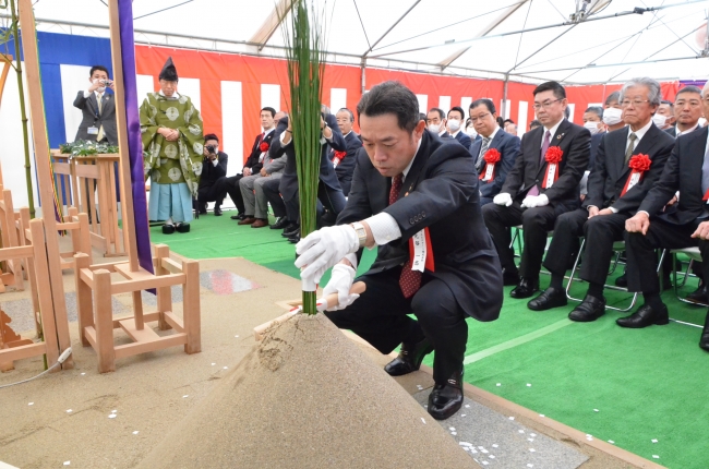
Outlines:
<svg viewBox="0 0 709 469"><path fill-rule="evenodd" d="M435 349L433 378L444 384L462 370L468 341L466 315L442 280L424 274L421 289L407 300L399 287L400 276L401 267L396 267L357 278L354 281L366 284L366 291L345 310L325 315L382 353L390 353L401 342L420 340L423 333Z"/></svg>

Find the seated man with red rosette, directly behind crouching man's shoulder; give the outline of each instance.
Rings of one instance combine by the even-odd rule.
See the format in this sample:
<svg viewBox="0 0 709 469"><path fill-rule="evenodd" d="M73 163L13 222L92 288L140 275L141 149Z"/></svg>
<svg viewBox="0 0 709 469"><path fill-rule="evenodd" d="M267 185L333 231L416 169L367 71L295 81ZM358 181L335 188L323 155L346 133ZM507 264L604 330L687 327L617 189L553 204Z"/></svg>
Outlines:
<svg viewBox="0 0 709 469"><path fill-rule="evenodd" d="M490 99L477 99L470 104L470 119L482 139L470 146L480 179L480 206L492 203L505 183L507 172L519 154L519 137L509 135L497 125L495 105ZM490 152L495 149L496 152ZM485 161L485 155L490 163ZM493 163L497 158L496 163Z"/></svg>

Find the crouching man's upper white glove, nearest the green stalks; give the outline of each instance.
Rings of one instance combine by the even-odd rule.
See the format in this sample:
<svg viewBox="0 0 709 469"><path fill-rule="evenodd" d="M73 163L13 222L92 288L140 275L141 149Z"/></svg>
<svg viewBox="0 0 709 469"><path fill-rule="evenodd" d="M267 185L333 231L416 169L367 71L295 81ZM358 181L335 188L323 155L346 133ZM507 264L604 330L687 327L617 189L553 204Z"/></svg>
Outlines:
<svg viewBox="0 0 709 469"><path fill-rule="evenodd" d="M319 282L325 270L359 248L357 232L349 225L313 231L296 244L296 253L299 254L296 267L302 268L300 278Z"/></svg>

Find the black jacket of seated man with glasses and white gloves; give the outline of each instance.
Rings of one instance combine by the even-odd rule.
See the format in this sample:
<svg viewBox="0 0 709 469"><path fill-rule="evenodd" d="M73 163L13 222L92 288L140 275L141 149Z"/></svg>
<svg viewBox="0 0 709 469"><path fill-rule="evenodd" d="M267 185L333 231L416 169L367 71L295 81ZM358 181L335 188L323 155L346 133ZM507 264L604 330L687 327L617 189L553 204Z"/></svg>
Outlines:
<svg viewBox="0 0 709 469"><path fill-rule="evenodd" d="M552 135L550 146L558 146L564 153L558 165L558 179L551 188L542 189L546 176L546 161L540 165L542 137L546 132L544 127L527 132L521 137L519 155L515 166L507 173L501 192L506 192L513 199L522 199L532 185L538 184L540 194L545 194L549 204L578 206L578 183L584 177L590 157L591 133L588 129L576 125L564 119Z"/></svg>

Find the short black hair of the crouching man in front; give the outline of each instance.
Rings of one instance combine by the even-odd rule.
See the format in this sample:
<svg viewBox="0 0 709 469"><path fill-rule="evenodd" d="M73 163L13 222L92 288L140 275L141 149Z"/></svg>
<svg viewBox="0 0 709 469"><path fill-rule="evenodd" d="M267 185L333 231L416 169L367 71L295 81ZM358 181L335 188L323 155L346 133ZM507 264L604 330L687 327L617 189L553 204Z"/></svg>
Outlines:
<svg viewBox="0 0 709 469"><path fill-rule="evenodd" d="M392 113L399 129L413 132L419 123L419 100L413 92L399 82L388 81L373 86L357 105L357 118Z"/></svg>

